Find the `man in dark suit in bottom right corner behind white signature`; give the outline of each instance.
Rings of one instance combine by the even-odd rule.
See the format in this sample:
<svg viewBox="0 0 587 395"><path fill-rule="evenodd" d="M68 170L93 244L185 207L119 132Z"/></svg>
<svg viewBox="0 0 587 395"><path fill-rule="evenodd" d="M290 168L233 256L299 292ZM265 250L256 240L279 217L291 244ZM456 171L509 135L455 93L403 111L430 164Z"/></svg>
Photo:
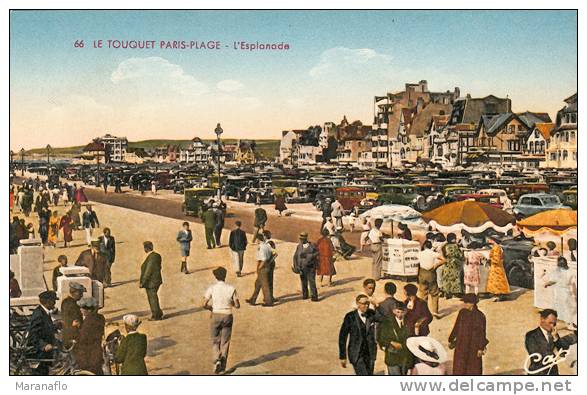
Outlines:
<svg viewBox="0 0 587 395"><path fill-rule="evenodd" d="M526 372L534 376L558 376L558 366L545 358L555 358L557 352L566 350L576 342L575 335L560 337L556 330L558 314L556 310L545 309L540 312L540 325L526 333L525 345L528 351ZM562 356L562 355L561 355ZM530 366L528 366L530 362ZM546 362L546 363L543 363Z"/></svg>

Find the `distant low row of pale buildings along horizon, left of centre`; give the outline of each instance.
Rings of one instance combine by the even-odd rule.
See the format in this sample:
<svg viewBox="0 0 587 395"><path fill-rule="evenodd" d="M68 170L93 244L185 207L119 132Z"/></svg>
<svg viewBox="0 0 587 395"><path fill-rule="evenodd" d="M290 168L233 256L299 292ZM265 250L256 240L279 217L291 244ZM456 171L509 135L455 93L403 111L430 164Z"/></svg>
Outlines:
<svg viewBox="0 0 587 395"><path fill-rule="evenodd" d="M235 144L222 144L220 150L216 142L208 143L199 137L187 144L166 144L147 148L130 148L126 137L106 134L86 145L77 158L80 163L182 163L208 165L217 162L220 152L221 162L255 163L257 153L255 142L238 140Z"/></svg>

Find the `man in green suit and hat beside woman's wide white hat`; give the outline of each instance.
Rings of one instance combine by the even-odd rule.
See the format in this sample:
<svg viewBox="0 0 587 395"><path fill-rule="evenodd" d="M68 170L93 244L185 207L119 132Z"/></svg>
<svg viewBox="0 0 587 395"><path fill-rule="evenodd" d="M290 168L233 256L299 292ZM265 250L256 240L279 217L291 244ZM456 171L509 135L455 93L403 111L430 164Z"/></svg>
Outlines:
<svg viewBox="0 0 587 395"><path fill-rule="evenodd" d="M406 305L397 302L393 316L386 318L377 330L377 343L385 350L385 364L390 376L404 376L413 365L412 353L406 346L410 333L405 316Z"/></svg>

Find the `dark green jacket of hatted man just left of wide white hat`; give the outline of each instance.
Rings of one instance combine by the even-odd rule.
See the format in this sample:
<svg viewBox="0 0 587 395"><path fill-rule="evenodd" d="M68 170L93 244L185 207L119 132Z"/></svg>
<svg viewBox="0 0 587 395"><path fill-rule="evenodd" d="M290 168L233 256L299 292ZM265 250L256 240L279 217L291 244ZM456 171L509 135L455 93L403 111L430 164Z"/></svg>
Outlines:
<svg viewBox="0 0 587 395"><path fill-rule="evenodd" d="M400 328L395 316L386 318L377 330L377 343L385 350L385 364L387 366L403 366L410 368L413 365L413 356L406 340L410 337L407 322L404 318L404 325ZM396 350L390 346L391 342L397 342L402 348Z"/></svg>

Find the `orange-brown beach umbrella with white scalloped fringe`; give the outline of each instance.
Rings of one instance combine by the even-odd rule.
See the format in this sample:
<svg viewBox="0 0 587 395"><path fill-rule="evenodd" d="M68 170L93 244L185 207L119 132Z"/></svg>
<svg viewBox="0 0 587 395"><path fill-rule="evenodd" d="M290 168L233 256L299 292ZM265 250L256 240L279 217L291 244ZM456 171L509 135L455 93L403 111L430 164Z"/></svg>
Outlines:
<svg viewBox="0 0 587 395"><path fill-rule="evenodd" d="M515 218L508 212L488 203L463 200L448 203L422 214L428 222L443 233L482 233L494 229L505 233L514 227Z"/></svg>

